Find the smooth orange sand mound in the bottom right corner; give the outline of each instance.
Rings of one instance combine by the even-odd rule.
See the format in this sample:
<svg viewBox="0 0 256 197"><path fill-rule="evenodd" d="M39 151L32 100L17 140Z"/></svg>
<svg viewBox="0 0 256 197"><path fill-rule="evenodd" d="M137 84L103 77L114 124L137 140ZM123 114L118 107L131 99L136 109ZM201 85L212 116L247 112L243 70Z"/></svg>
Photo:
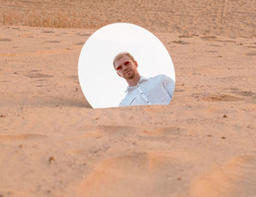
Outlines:
<svg viewBox="0 0 256 197"><path fill-rule="evenodd" d="M252 155L231 158L192 181L191 196L231 197L255 196L256 157Z"/></svg>

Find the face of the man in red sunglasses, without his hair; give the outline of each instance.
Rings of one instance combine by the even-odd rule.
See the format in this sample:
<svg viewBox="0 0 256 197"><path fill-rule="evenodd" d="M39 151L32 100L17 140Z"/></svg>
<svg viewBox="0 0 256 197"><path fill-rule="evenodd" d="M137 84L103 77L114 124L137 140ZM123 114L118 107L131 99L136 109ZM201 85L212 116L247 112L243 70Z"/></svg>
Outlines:
<svg viewBox="0 0 256 197"><path fill-rule="evenodd" d="M137 67L137 61L132 61L127 55L123 55L120 59L115 61L117 74L125 80L132 80L135 77L135 74L138 73Z"/></svg>

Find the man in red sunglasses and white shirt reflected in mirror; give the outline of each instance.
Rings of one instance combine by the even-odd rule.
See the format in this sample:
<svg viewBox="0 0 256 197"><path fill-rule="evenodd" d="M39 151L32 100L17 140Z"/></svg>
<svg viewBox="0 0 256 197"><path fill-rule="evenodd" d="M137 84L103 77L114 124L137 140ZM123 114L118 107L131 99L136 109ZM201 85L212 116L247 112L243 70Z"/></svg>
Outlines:
<svg viewBox="0 0 256 197"><path fill-rule="evenodd" d="M138 63L131 54L119 53L113 60L117 74L128 83L124 99L118 105L170 104L175 82L164 74L146 78L140 76Z"/></svg>

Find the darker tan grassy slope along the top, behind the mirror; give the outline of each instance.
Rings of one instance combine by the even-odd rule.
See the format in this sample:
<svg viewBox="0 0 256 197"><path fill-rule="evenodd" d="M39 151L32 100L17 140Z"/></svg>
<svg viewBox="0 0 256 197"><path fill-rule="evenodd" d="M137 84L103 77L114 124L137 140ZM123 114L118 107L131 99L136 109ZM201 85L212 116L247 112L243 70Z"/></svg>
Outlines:
<svg viewBox="0 0 256 197"><path fill-rule="evenodd" d="M256 1L1 1L0 26L100 28L134 23L153 32L255 37ZM207 6L206 6L207 5ZM244 22L244 19L246 23Z"/></svg>

